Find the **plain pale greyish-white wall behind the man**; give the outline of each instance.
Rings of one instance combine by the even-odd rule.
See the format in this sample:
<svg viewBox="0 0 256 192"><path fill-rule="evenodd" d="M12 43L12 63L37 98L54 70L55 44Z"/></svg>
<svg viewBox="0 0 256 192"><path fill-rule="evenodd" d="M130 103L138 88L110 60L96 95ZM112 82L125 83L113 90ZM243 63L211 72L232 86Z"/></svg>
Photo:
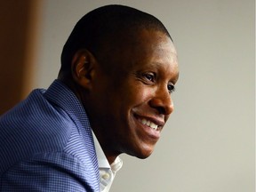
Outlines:
<svg viewBox="0 0 256 192"><path fill-rule="evenodd" d="M111 191L254 191L254 1L44 0L34 87L52 83L76 21L104 4L162 20L180 60L176 111L155 153L124 155Z"/></svg>

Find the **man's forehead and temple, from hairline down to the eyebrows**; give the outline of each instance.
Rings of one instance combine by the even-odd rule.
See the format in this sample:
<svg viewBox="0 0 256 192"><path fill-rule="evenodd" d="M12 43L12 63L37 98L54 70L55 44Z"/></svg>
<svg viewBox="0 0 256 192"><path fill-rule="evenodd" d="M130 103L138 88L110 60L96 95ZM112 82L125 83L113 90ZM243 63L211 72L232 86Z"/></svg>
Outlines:
<svg viewBox="0 0 256 192"><path fill-rule="evenodd" d="M176 49L171 38L163 32L148 29L127 32L122 38L116 37L109 47L104 60L108 76L117 78L144 69L161 69L178 76Z"/></svg>

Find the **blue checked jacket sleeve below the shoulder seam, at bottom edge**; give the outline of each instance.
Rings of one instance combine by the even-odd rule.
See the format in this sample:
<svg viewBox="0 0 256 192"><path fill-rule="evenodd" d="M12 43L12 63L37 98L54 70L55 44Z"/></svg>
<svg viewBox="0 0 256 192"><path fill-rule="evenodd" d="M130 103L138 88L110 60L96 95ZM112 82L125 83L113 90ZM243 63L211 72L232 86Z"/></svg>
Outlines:
<svg viewBox="0 0 256 192"><path fill-rule="evenodd" d="M0 172L3 191L98 191L97 170L66 152L40 153L12 164ZM8 181L6 181L8 180ZM47 182L45 182L47 180ZM12 183L15 182L15 185ZM58 185L56 185L56 183ZM0 189L0 190L1 190ZM1 191L2 191L1 190Z"/></svg>

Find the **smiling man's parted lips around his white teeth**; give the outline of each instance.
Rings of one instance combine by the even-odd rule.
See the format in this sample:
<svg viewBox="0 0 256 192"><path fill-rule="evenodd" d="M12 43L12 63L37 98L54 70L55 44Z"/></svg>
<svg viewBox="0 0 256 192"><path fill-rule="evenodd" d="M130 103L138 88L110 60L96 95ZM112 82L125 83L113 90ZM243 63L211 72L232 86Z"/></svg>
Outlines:
<svg viewBox="0 0 256 192"><path fill-rule="evenodd" d="M158 140L160 138L160 132L163 129L164 126L164 120L159 119L157 117L152 117L152 116L139 116L137 114L134 114L134 118L136 119L136 122L138 124L140 124L140 131L143 131L143 135L147 134L147 136L151 139L151 140ZM157 124L158 127L157 129L153 129L151 127L149 127L147 124L142 124L140 119L146 119L154 124Z"/></svg>

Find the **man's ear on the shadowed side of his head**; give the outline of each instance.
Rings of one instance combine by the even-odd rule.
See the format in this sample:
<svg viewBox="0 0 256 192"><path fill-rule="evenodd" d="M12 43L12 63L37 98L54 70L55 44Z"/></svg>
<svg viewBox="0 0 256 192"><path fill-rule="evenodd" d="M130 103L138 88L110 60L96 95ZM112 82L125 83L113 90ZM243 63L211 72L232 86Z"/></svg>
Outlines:
<svg viewBox="0 0 256 192"><path fill-rule="evenodd" d="M75 82L85 89L92 88L92 80L95 73L97 60L88 50L79 50L75 53L72 64L71 74Z"/></svg>

